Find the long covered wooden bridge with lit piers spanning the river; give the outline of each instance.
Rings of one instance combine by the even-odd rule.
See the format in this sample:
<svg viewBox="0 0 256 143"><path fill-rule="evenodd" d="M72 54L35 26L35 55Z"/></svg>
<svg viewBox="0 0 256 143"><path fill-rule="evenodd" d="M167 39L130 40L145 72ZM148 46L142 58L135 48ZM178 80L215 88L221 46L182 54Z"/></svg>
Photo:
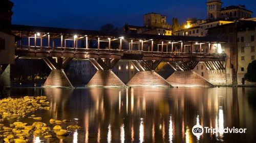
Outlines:
<svg viewBox="0 0 256 143"><path fill-rule="evenodd" d="M88 59L96 67L97 73L89 86L126 87L111 71L119 60L131 60L139 71L128 86L171 86L168 79L164 80L154 71L162 61L180 71L194 69L198 62L203 62L209 70L225 70L226 54L217 53L222 53L220 43L223 41L217 38L105 33L18 25L12 26L12 32L22 37L15 47L15 56L44 59L52 69L45 86L73 87L63 71L72 59ZM212 86L208 82L204 84Z"/></svg>

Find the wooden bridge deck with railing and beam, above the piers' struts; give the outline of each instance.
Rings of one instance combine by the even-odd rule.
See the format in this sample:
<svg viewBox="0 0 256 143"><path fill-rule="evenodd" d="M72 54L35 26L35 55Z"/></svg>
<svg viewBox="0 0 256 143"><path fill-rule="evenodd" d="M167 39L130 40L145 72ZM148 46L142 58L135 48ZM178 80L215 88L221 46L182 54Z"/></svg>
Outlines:
<svg viewBox="0 0 256 143"><path fill-rule="evenodd" d="M148 52L134 50L74 49L61 47L16 46L15 55L20 57L69 57L69 58L114 58L125 60L163 61L225 61L226 54Z"/></svg>

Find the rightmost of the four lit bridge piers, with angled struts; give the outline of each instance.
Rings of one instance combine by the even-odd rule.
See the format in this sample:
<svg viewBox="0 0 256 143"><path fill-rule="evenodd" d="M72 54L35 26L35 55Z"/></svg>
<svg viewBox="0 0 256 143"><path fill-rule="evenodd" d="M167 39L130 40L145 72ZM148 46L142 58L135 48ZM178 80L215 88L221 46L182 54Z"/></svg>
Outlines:
<svg viewBox="0 0 256 143"><path fill-rule="evenodd" d="M174 87L215 87L202 76L198 75L193 69L198 61L189 62L168 62L175 70L166 81Z"/></svg>

